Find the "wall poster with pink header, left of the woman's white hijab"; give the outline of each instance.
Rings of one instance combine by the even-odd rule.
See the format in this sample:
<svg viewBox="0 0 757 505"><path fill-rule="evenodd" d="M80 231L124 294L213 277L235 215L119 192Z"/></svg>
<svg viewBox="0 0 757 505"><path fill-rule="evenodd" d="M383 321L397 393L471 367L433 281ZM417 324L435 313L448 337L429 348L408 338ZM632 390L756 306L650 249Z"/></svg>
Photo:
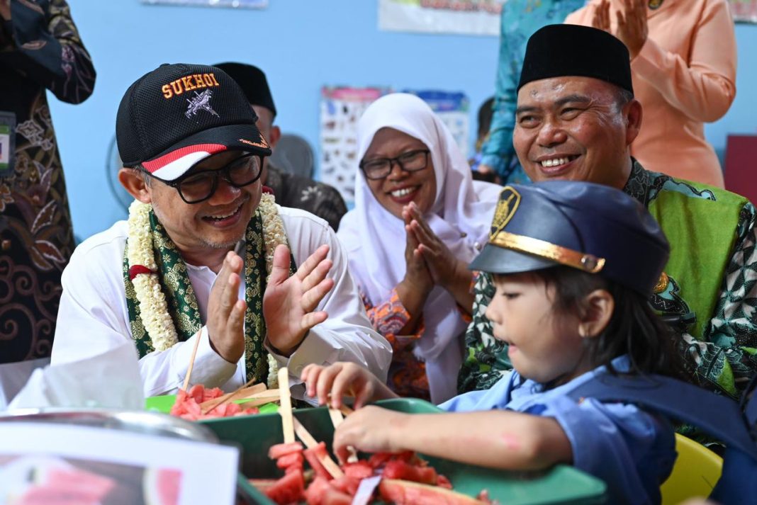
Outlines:
<svg viewBox="0 0 757 505"><path fill-rule="evenodd" d="M388 88L321 89L321 163L319 179L335 187L348 206L355 200L357 120Z"/></svg>

